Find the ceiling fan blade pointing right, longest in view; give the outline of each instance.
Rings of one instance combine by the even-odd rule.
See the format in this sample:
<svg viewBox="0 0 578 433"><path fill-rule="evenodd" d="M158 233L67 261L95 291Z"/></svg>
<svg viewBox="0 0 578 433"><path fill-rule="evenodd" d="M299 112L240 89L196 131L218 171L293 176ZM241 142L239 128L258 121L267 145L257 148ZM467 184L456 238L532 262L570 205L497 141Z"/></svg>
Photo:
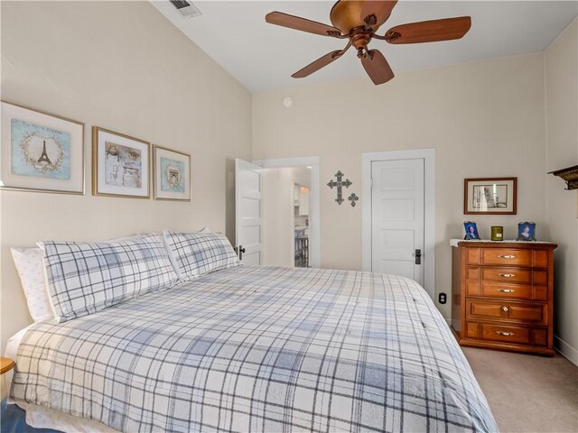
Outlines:
<svg viewBox="0 0 578 433"><path fill-rule="evenodd" d="M471 27L469 16L396 25L386 33L389 43L420 43L460 39Z"/></svg>

